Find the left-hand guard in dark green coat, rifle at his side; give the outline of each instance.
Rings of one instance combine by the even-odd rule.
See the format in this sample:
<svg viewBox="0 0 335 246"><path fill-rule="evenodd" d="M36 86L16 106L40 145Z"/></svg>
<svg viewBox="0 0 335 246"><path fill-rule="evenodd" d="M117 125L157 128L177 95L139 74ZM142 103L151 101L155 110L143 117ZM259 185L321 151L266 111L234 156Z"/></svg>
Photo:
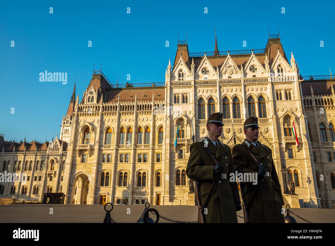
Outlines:
<svg viewBox="0 0 335 246"><path fill-rule="evenodd" d="M229 181L229 174L235 172L230 148L218 140L222 126L222 113L213 113L208 117L208 137L191 145L186 167L187 177L200 182L202 204L215 180L205 205L205 223L237 223L236 211L242 209L237 182ZM214 163L205 147L215 156L218 164Z"/></svg>

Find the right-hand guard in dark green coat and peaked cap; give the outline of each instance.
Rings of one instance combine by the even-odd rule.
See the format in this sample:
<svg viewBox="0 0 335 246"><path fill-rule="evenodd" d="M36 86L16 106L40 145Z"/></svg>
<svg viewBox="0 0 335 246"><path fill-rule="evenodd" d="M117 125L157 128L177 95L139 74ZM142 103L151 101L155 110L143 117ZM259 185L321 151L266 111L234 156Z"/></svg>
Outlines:
<svg viewBox="0 0 335 246"><path fill-rule="evenodd" d="M255 192L255 198L249 210L250 223L285 223L282 214L284 200L272 159L272 151L269 147L257 141L258 129L258 118L249 117L244 122L246 139L242 144L237 144L232 149L235 170L239 173L251 173L254 177L257 177L257 184L250 180L249 182L243 182L247 203L264 177L260 187ZM260 161L261 167L257 165L247 149Z"/></svg>

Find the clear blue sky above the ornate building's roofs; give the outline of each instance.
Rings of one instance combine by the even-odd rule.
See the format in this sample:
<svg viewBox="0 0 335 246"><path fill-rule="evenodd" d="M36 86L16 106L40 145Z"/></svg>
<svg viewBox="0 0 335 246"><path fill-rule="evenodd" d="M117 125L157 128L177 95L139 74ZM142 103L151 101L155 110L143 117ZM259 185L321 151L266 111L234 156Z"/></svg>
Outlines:
<svg viewBox="0 0 335 246"><path fill-rule="evenodd" d="M219 51L239 50L264 48L268 27L275 34L279 26L302 75L329 74L329 66L335 74L333 15L331 1L1 1L0 133L15 141L56 137L75 78L81 99L93 64L112 83L117 76L126 83L127 74L131 83L164 81L178 33L181 40L187 33L189 52L213 51L216 27ZM45 70L66 72L67 84L40 82Z"/></svg>

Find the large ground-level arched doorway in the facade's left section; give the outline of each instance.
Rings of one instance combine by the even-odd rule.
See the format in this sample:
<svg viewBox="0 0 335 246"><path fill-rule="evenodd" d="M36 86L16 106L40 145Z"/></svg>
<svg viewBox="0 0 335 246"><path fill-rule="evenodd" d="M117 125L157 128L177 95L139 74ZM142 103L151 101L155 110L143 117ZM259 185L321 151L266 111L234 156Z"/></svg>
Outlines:
<svg viewBox="0 0 335 246"><path fill-rule="evenodd" d="M85 173L77 173L75 175L72 182L72 204L87 204L91 186L90 181Z"/></svg>

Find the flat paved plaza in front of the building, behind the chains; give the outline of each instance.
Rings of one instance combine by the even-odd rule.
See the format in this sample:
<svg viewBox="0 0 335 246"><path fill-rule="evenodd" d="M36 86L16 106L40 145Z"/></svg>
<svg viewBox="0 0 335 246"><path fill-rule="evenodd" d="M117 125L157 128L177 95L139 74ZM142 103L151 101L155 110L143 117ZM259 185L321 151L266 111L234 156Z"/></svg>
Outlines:
<svg viewBox="0 0 335 246"><path fill-rule="evenodd" d="M108 207L111 208L109 205ZM50 208L53 209L53 214L50 214ZM128 208L130 214L129 212L127 214ZM150 206L150 208L156 209L159 215L169 219L197 221L196 206ZM111 217L117 223L135 223L143 210L144 205L116 205L111 211ZM243 216L241 211L238 215ZM291 211L313 223L335 223L334 209L293 208ZM105 215L104 205L16 204L0 207L2 223L102 223ZM298 223L308 223L292 216ZM150 218L155 219L155 215L150 214ZM243 219L238 218L238 222L243 223ZM160 218L158 223L173 222Z"/></svg>

